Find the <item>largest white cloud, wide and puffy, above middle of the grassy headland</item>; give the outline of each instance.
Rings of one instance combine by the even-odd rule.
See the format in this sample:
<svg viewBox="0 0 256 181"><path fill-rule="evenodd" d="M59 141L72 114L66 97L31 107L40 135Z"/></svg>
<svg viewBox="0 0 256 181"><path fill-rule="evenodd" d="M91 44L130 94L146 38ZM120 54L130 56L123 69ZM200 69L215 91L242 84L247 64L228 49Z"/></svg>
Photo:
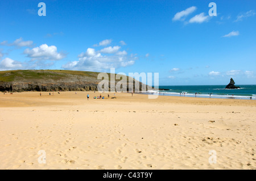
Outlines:
<svg viewBox="0 0 256 181"><path fill-rule="evenodd" d="M118 47L118 46L115 46ZM118 48L107 48L100 50L100 52L113 53L116 52ZM61 68L68 70L87 70L87 71L105 71L110 68L119 68L133 65L137 57L135 54L127 55L127 52L123 50L122 52L117 52L115 54L102 55L97 53L95 49L88 48L85 53L79 54L79 61L68 62L62 65Z"/></svg>

